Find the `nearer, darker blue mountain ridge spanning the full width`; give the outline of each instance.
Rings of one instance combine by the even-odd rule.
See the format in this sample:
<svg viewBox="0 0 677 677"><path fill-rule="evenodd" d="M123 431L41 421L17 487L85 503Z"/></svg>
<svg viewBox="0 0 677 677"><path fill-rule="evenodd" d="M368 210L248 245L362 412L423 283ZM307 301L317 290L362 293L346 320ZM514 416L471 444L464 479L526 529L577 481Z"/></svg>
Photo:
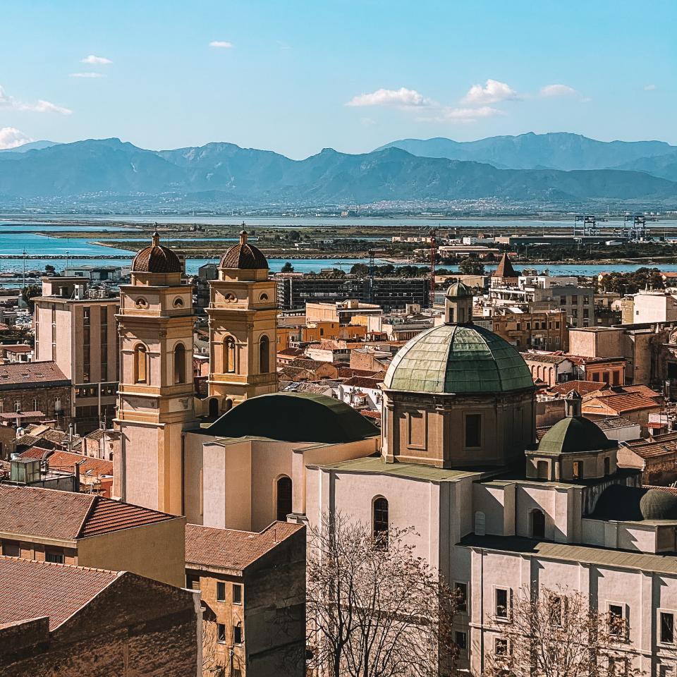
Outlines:
<svg viewBox="0 0 677 677"><path fill-rule="evenodd" d="M657 157L666 154L664 146L671 148L661 145ZM677 183L643 171L498 169L396 147L357 155L325 148L293 160L225 142L153 151L114 138L0 154L0 203L83 195L190 196L209 205L252 207L482 199L660 207L677 205Z"/></svg>

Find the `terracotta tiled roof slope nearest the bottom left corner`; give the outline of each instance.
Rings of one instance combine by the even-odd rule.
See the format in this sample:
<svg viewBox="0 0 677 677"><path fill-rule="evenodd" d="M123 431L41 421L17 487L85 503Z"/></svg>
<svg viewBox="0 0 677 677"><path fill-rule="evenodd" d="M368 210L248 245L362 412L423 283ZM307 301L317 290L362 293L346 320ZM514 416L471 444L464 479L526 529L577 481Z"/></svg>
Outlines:
<svg viewBox="0 0 677 677"><path fill-rule="evenodd" d="M0 556L0 624L49 616L54 630L123 573Z"/></svg>

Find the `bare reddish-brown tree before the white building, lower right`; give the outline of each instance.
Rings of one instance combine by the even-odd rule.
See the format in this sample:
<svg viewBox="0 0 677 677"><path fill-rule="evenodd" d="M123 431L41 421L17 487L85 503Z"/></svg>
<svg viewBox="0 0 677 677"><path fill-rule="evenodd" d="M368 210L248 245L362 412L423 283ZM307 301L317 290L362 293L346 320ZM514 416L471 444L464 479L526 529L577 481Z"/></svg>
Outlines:
<svg viewBox="0 0 677 677"><path fill-rule="evenodd" d="M600 613L578 591L525 587L502 609L486 677L634 677L622 615Z"/></svg>

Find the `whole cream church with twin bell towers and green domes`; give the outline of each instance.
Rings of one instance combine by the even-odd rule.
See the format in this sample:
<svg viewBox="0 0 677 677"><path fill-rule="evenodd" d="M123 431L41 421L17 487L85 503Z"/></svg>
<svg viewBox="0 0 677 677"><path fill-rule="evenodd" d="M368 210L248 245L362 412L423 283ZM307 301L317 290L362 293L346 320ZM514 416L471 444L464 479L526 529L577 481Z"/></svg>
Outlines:
<svg viewBox="0 0 677 677"><path fill-rule="evenodd" d="M413 527L417 552L463 594L456 643L474 674L504 650L511 600L559 585L623 619L616 667L677 674L677 492L619 467L578 394L537 441L530 370L472 324L467 287L451 286L444 324L394 358L380 431L327 396L276 392L275 298L242 233L211 283L198 401L181 264L157 234L138 253L118 315L116 496L212 527L317 525L336 511L374 533Z"/></svg>

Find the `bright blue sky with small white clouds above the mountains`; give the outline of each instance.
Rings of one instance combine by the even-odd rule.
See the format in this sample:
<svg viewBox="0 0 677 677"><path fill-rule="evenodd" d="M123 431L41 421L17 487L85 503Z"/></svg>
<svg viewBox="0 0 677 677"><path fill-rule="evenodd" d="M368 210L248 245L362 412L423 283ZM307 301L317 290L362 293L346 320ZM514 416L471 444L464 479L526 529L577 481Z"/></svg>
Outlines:
<svg viewBox="0 0 677 677"><path fill-rule="evenodd" d="M3 0L0 147L677 144L677 2Z"/></svg>

